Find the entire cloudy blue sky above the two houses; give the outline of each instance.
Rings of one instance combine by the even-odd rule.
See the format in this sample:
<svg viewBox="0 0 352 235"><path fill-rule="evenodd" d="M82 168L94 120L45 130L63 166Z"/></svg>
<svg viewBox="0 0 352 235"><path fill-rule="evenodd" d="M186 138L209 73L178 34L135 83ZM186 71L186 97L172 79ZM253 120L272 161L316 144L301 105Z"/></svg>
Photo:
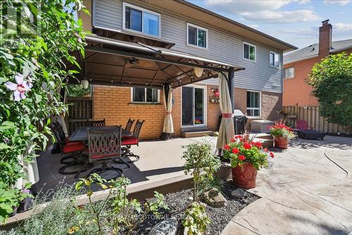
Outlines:
<svg viewBox="0 0 352 235"><path fill-rule="evenodd" d="M299 48L318 42L318 28L327 19L333 41L352 39L352 0L187 1Z"/></svg>

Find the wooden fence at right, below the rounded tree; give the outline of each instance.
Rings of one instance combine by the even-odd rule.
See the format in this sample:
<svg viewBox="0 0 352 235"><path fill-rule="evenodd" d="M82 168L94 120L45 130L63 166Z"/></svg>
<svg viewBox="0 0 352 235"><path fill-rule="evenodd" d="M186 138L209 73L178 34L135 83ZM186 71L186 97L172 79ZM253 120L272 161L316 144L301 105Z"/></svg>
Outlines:
<svg viewBox="0 0 352 235"><path fill-rule="evenodd" d="M352 135L351 126L327 122L325 118L320 116L319 107L284 106L282 108L284 113L288 114L287 119L294 127L296 127L297 121L302 120L307 122L308 129L331 134Z"/></svg>

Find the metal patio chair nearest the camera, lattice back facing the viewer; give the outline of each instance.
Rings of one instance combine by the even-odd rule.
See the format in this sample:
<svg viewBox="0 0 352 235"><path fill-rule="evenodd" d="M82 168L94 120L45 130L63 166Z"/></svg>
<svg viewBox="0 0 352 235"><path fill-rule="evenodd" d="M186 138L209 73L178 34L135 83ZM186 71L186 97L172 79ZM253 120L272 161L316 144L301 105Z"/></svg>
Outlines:
<svg viewBox="0 0 352 235"><path fill-rule="evenodd" d="M89 159L87 160L86 164L89 164L94 160L103 161L101 167L92 169L92 171L89 172L88 176L94 173L101 175L105 171L116 171L118 172L118 176L121 176L122 169L118 167L113 167L113 165L110 164L111 159L121 158L121 126L105 130L90 130L88 128L87 135L87 152L89 155ZM84 166L86 164L84 164ZM80 176L80 173L81 172L78 172L75 175L75 178L78 178Z"/></svg>

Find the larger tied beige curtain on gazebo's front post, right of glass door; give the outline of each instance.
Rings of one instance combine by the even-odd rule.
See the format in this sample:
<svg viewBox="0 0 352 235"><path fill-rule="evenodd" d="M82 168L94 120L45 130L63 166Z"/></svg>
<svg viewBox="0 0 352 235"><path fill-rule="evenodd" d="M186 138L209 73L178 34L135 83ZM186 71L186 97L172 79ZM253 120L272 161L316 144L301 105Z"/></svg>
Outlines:
<svg viewBox="0 0 352 235"><path fill-rule="evenodd" d="M222 119L219 128L218 141L216 147L223 149L234 137L234 121L232 120L232 103L230 99L229 85L226 77L219 73L219 98Z"/></svg>

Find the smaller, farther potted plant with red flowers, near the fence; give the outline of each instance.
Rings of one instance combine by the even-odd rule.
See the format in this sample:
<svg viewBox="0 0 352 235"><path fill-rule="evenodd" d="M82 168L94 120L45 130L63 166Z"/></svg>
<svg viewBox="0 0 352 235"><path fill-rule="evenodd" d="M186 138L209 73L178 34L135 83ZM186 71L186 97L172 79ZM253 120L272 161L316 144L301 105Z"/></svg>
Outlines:
<svg viewBox="0 0 352 235"><path fill-rule="evenodd" d="M281 149L287 149L288 141L296 136L283 119L274 121L274 126L270 126L270 133L274 136L275 147Z"/></svg>

